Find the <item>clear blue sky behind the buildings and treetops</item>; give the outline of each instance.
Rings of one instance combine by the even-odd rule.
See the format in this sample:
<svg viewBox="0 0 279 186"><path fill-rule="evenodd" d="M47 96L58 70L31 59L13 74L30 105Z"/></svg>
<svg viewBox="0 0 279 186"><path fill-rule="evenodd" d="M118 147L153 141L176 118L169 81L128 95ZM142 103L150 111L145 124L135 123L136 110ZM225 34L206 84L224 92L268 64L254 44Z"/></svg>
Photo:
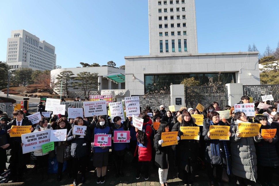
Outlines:
<svg viewBox="0 0 279 186"><path fill-rule="evenodd" d="M0 1L0 61L7 38L24 29L55 46L56 64L125 64L124 56L149 55L148 0ZM263 53L279 41L278 0L196 0L198 52Z"/></svg>

